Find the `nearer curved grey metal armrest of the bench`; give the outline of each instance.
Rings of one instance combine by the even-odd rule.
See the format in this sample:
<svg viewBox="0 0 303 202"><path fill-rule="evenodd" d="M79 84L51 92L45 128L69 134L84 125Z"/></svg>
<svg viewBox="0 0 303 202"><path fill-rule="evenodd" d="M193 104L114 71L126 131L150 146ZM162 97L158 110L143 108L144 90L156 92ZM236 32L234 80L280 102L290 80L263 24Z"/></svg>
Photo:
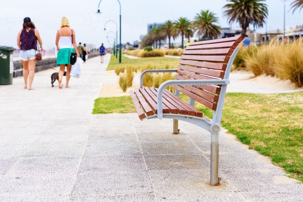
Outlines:
<svg viewBox="0 0 303 202"><path fill-rule="evenodd" d="M169 80L169 81L165 81L164 83L162 83L160 85L160 87L158 88L158 104L157 104L157 108L158 108L158 119L162 119L163 118L163 111L162 111L162 94L163 91L165 90L166 87L171 86L171 85L227 85L229 84L229 80L227 79L213 79L213 80L208 80L208 79L195 79L195 80Z"/></svg>

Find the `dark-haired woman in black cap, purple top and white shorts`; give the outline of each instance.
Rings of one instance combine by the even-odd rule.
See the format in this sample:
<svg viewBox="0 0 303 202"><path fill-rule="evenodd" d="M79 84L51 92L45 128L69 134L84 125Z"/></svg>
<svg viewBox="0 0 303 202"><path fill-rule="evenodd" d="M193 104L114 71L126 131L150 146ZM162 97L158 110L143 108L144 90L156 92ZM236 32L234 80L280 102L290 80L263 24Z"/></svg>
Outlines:
<svg viewBox="0 0 303 202"><path fill-rule="evenodd" d="M17 45L20 48L20 59L23 66L24 88L27 88L27 78L29 78L28 90L34 90L32 83L35 75L36 51L38 50L37 40L41 50L43 50L42 41L31 18L26 17L23 22L23 29L17 36Z"/></svg>

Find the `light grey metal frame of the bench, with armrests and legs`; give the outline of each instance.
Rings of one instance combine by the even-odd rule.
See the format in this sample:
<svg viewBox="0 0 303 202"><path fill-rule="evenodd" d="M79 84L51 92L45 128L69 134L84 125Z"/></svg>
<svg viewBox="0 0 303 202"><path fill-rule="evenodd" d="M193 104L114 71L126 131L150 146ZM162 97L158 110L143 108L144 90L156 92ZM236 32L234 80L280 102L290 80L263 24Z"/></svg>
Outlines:
<svg viewBox="0 0 303 202"><path fill-rule="evenodd" d="M244 40L243 40L244 41ZM242 42L243 42L242 41ZM241 43L242 43L241 42ZM241 44L239 43L239 45ZM238 45L238 47L239 47ZM230 83L228 78L229 78L229 73L231 71L231 66L233 64L233 61L239 51L239 48L236 48L235 51L232 53L230 56L230 59L227 63L227 68L225 71L225 75L223 79L216 79L216 80L169 80L165 81L160 85L158 88L158 102L157 102L157 109L158 109L158 114L154 114L152 116L146 117L144 119L152 119L152 118L171 118L174 120L181 120L181 121L186 121L191 124L195 124L201 128L204 128L205 130L209 131L211 133L211 170L210 170L210 184L211 185L219 185L221 178L218 177L218 172L219 172L219 132L221 131L221 117L222 117L222 110L223 110L223 104L224 104L224 99L225 99L225 92L227 85ZM142 72L140 76L140 87L143 87L143 76L146 73L159 73L159 72L176 72L176 69L163 69L163 70L146 70ZM209 120L208 118L205 117L195 117L195 116L188 116L188 115L182 115L182 114L163 114L162 111L162 94L163 91L165 90L166 87L170 85L221 85L221 91L219 94L219 100L217 104L217 109L214 111L213 118L212 120ZM180 92L176 90L175 95L179 97ZM193 98L189 98L189 105L195 106L195 100ZM142 119L142 121L144 120ZM176 122L178 124L178 122ZM175 121L174 121L174 128L177 127L178 125L175 126ZM175 130L174 130L175 132Z"/></svg>

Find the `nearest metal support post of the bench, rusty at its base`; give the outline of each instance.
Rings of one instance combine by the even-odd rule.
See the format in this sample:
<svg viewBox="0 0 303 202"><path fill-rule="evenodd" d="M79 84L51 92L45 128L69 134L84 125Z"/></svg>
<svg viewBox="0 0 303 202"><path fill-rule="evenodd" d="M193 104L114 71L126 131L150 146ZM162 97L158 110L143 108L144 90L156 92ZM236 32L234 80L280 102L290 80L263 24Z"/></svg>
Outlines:
<svg viewBox="0 0 303 202"><path fill-rule="evenodd" d="M211 133L210 184L219 185L219 134Z"/></svg>

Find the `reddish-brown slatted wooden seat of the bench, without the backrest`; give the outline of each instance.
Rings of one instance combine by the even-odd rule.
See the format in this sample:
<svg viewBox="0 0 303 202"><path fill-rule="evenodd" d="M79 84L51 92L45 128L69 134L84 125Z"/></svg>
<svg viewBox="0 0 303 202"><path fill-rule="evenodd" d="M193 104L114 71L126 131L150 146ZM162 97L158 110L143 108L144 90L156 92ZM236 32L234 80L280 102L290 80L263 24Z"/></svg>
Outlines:
<svg viewBox="0 0 303 202"><path fill-rule="evenodd" d="M146 117L157 114L157 92L158 88L137 88L129 91L134 102L138 116L141 120ZM163 92L163 113L164 114L182 114L202 118L201 111L181 100L170 91Z"/></svg>

